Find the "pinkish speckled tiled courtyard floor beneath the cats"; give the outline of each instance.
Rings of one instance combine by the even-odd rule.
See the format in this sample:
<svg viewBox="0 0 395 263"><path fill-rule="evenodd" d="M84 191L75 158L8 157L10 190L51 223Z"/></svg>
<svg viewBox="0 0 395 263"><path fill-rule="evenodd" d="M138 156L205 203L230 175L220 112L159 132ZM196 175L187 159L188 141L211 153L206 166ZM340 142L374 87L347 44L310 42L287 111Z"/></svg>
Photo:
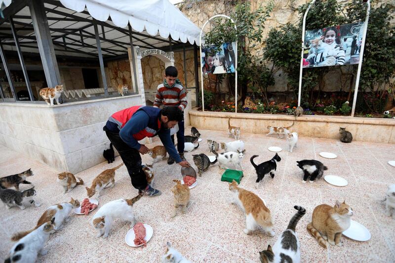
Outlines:
<svg viewBox="0 0 395 263"><path fill-rule="evenodd" d="M189 127L190 128L190 127ZM188 128L188 129L189 129ZM186 129L186 134L189 134ZM193 164L192 154L208 153L206 139L217 142L230 142L231 138L223 131L200 130L203 141L197 150L186 153L187 160ZM395 261L395 220L384 214L384 206L377 200L383 198L388 184L395 183L395 167L387 162L395 159L395 145L353 142L342 144L336 140L299 138L298 148L293 153L286 150L286 141L276 136L263 134L241 134L245 142L246 155L242 161L244 178L240 186L257 193L266 200L274 218L275 237L269 237L261 231L245 235L243 232L245 216L235 205L230 204L231 192L228 184L221 182L222 171L215 164L198 178L198 185L191 189L191 204L185 215L178 214L171 219L173 195L170 191L173 179L180 177L180 166L167 165L160 161L154 165L156 179L154 187L162 191L159 197L143 197L134 205L137 222L151 225L154 229L152 239L145 247L132 248L126 245L125 235L129 224L115 221L108 238L96 238L88 216L73 215L65 227L52 234L45 248L46 256L40 256L39 262L159 262L165 251L166 241L170 241L187 259L192 262L259 262L259 251L274 244L281 231L285 229L296 210L294 205L307 209L306 215L297 225L301 243L302 262L394 262ZM154 145L158 145L158 139ZM274 179L265 177L261 187L255 189L256 173L249 158L258 154L256 163L269 160L274 156L267 150L269 146L283 148L279 155ZM319 156L321 151L336 153L336 159ZM101 153L98 153L101 154ZM301 159L316 159L328 166L324 175L339 175L348 181L348 186L340 188L327 184L323 178L313 184L302 184L302 171L296 166ZM143 156L143 163L151 158ZM112 164L103 162L77 174L90 186L93 178L105 169L121 162L117 157ZM193 165L194 166L194 165ZM0 260L4 260L12 246L11 235L19 230L30 229L36 225L40 215L50 205L69 201L71 197L82 200L86 190L77 186L71 192L63 194L57 183L57 173L51 167L40 164L19 153L0 147L0 176L10 175L32 168L31 181L38 192L39 208L17 207L6 209L0 205ZM195 166L194 166L195 167ZM28 188L21 185L21 189ZM116 172L114 188L104 190L99 198L99 206L119 198L131 198L137 194L132 188L125 166ZM346 200L355 211L353 220L365 225L371 239L357 242L346 237L343 247L328 245L325 250L318 246L310 236L306 225L311 221L313 209L322 203L333 205L335 200Z"/></svg>

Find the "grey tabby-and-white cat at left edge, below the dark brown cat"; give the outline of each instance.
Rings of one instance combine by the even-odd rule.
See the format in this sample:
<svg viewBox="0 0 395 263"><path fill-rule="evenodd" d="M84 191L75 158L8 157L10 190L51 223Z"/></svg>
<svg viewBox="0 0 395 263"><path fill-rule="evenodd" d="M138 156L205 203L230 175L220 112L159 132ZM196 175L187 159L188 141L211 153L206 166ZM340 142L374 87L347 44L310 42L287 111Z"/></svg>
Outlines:
<svg viewBox="0 0 395 263"><path fill-rule="evenodd" d="M16 191L14 189L0 188L0 199L8 209L13 206L18 206L21 210L23 210L26 208L25 204L34 204L36 207L39 207L41 204L33 199L33 197L36 195L37 194L34 187L22 192Z"/></svg>

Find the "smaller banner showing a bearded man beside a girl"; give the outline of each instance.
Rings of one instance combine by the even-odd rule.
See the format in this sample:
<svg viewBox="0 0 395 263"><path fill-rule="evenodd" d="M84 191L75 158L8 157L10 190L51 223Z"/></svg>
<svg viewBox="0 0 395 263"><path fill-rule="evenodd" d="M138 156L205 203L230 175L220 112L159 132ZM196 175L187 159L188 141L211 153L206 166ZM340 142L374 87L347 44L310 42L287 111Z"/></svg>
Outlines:
<svg viewBox="0 0 395 263"><path fill-rule="evenodd" d="M236 42L223 43L201 48L201 70L203 74L235 73Z"/></svg>

